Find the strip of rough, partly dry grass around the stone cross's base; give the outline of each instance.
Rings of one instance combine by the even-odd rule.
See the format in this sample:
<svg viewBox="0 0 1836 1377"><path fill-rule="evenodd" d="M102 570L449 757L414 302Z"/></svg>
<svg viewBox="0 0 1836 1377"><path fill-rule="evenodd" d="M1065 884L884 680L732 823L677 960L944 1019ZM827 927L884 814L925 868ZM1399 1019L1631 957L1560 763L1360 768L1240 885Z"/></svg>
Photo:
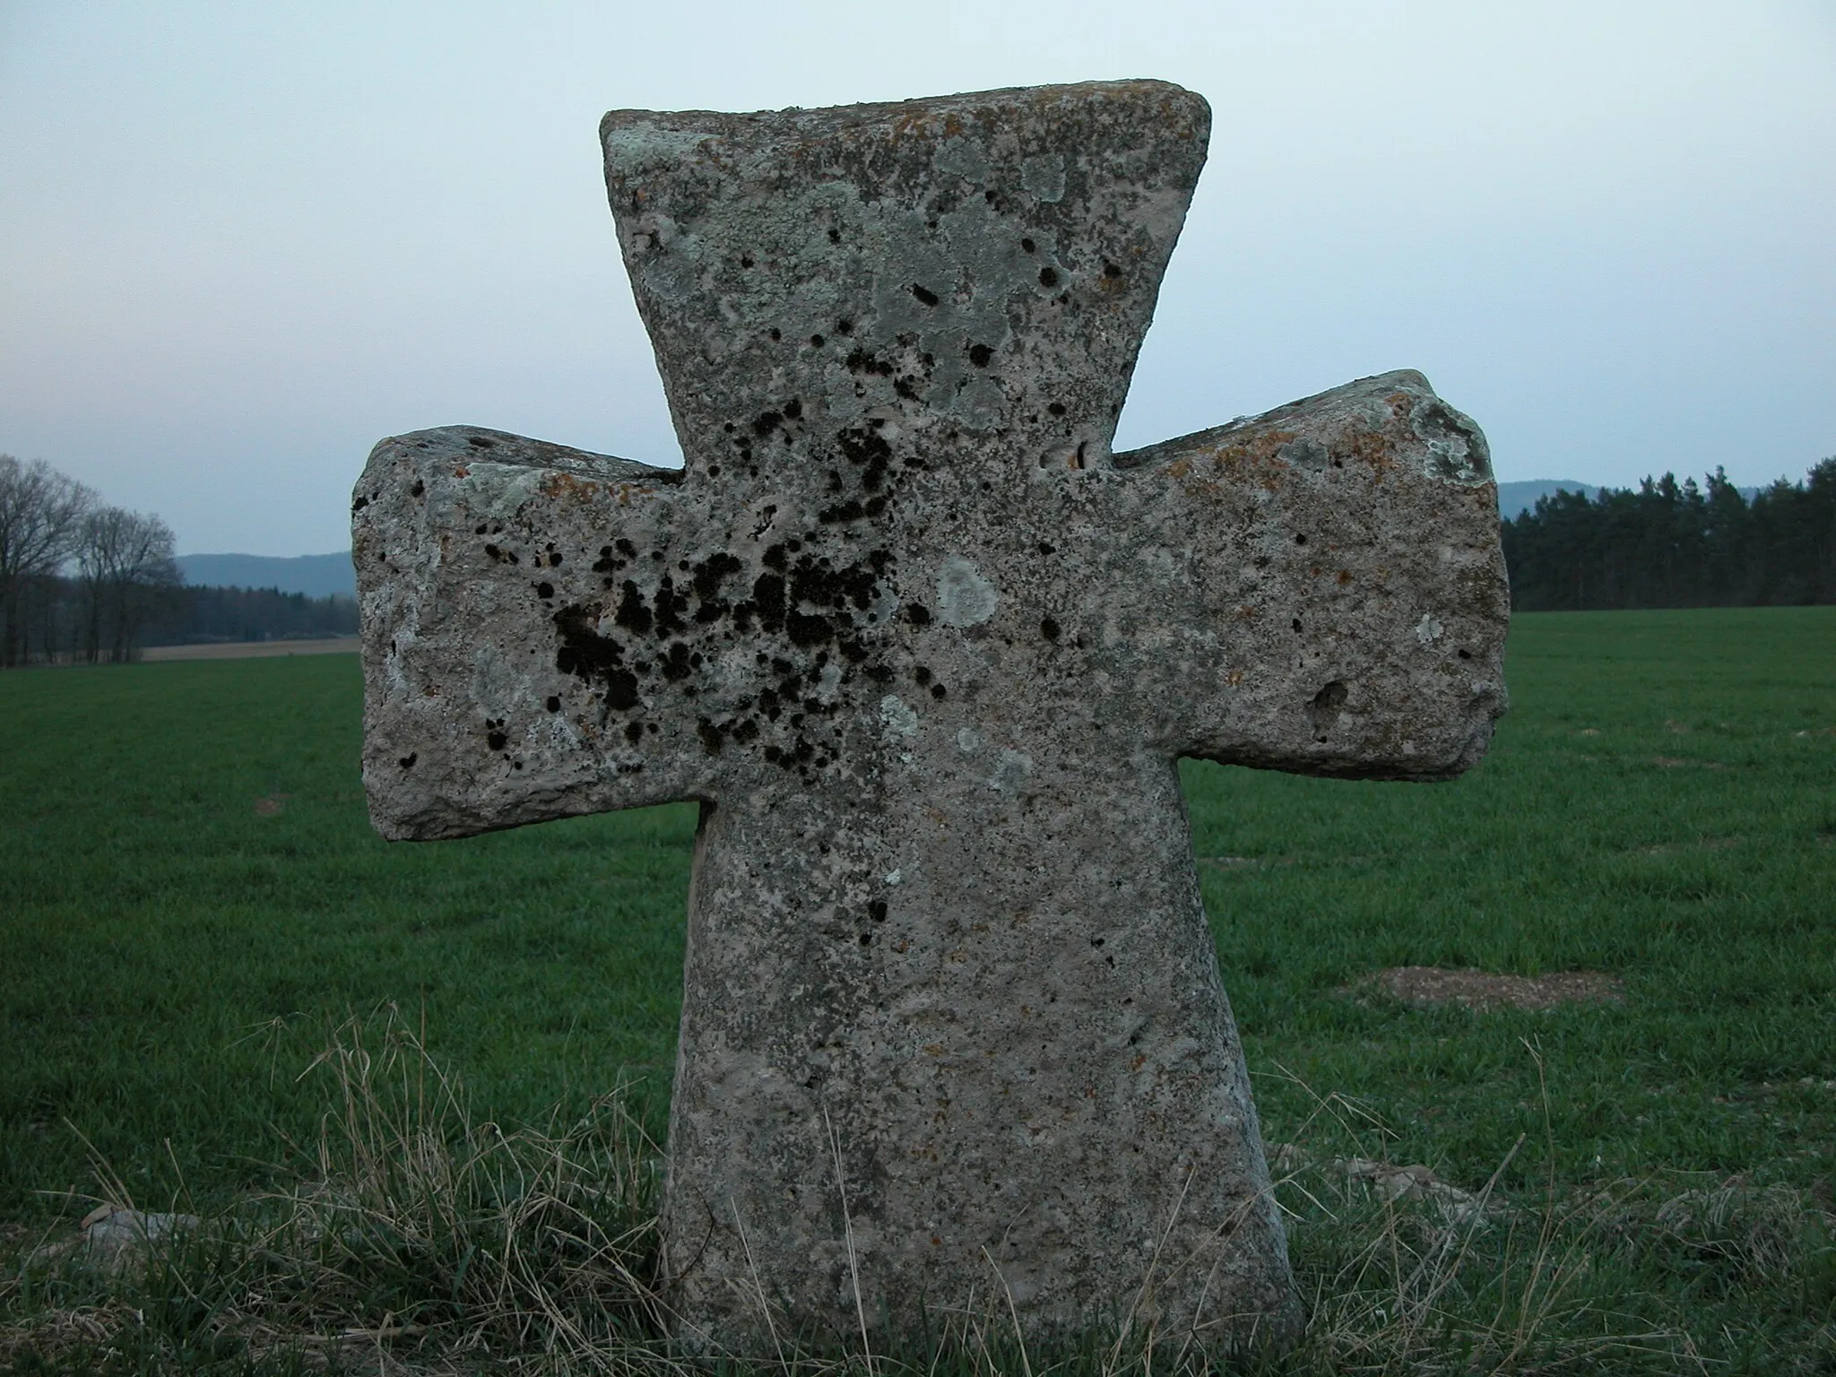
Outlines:
<svg viewBox="0 0 1836 1377"><path fill-rule="evenodd" d="M0 1329L0 1371L1215 1371L1206 1355L1127 1327L1074 1351L1028 1351L993 1282L980 1305L936 1316L922 1353L876 1353L863 1316L852 1355L784 1340L769 1359L690 1360L666 1340L657 1289L661 1153L617 1094L545 1131L477 1122L393 1008L332 1028L307 1074L325 1080L330 1109L297 1151L294 1188L149 1239L143 1267L110 1274L62 1254L0 1283L0 1313L20 1316ZM1742 1285L1836 1267L1836 1221L1783 1186L1557 1193L1551 1181L1540 1201L1509 1201L1498 1182L1522 1138L1476 1188L1386 1162L1384 1140L1375 1116L1333 1094L1272 1153L1311 1320L1291 1353L1232 1370L1706 1370L1687 1316L1651 1293L1665 1269ZM37 1304L6 1294L29 1285ZM1836 1355L1829 1324L1808 1342Z"/></svg>

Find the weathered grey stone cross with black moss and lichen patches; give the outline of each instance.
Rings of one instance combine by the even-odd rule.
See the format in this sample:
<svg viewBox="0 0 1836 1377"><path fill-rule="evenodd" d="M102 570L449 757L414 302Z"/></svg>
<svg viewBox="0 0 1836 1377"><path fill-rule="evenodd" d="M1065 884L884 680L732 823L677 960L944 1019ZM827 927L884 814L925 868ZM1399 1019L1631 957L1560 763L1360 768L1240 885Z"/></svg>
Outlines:
<svg viewBox="0 0 1836 1377"><path fill-rule="evenodd" d="M455 426L358 483L384 835L701 804L692 1346L1294 1327L1175 762L1458 775L1507 602L1419 373L1111 452L1208 123L1153 81L613 112L683 470Z"/></svg>

